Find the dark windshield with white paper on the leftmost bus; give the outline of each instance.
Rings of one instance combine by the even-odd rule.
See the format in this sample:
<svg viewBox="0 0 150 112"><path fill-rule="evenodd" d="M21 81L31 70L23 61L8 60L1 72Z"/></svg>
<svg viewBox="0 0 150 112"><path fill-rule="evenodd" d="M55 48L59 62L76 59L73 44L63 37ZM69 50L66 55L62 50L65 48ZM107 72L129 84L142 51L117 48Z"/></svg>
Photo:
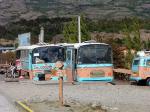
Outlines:
<svg viewBox="0 0 150 112"><path fill-rule="evenodd" d="M64 49L58 46L39 47L32 52L33 64L64 61Z"/></svg>

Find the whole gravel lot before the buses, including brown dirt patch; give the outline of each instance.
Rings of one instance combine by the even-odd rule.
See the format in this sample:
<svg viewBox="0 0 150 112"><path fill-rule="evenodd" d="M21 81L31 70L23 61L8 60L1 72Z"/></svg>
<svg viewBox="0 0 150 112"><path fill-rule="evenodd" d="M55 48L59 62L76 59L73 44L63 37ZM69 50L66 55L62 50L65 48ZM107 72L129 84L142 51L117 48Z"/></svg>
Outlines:
<svg viewBox="0 0 150 112"><path fill-rule="evenodd" d="M57 82L0 81L0 93L27 102L35 112L150 112L150 87L127 83L65 83L64 107L58 105Z"/></svg>

